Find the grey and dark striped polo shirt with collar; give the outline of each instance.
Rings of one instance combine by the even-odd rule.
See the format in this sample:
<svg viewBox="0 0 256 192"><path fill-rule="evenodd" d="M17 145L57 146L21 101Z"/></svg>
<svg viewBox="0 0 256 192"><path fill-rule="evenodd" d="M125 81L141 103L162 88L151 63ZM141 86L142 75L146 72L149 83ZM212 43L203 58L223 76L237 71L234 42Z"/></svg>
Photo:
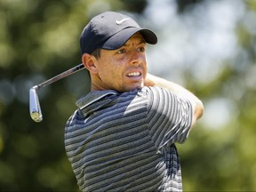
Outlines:
<svg viewBox="0 0 256 192"><path fill-rule="evenodd" d="M154 86L94 91L76 105L65 148L82 191L182 191L174 143L188 138L188 100Z"/></svg>

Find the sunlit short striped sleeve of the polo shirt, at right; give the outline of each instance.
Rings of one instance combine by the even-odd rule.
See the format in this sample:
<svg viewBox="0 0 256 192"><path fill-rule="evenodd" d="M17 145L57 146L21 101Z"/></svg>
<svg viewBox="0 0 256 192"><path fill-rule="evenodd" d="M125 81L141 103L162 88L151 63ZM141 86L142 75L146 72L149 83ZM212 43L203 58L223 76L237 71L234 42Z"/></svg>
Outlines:
<svg viewBox="0 0 256 192"><path fill-rule="evenodd" d="M185 142L192 116L192 105L188 100L161 87L148 88L148 129L158 150L175 142Z"/></svg>

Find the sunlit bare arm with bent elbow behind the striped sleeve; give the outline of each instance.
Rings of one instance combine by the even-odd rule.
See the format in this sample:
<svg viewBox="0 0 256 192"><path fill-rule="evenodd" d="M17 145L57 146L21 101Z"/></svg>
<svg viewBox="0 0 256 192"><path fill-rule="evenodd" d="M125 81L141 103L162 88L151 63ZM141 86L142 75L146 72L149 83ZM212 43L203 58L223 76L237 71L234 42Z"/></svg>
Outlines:
<svg viewBox="0 0 256 192"><path fill-rule="evenodd" d="M196 124L196 120L203 116L204 113L204 105L201 100L199 100L192 92L189 92L184 87L180 86L179 84L175 84L173 82L167 81L164 78L153 76L151 74L147 75L146 86L160 86L165 89L170 90L171 92L175 93L180 98L184 98L189 100L192 104L194 116L192 121L192 126Z"/></svg>

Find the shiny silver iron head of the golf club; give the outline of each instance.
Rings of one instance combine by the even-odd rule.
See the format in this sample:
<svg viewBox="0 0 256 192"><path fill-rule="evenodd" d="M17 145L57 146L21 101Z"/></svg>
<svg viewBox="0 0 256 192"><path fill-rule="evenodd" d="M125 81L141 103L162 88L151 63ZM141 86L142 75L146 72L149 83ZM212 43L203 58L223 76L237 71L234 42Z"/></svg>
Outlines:
<svg viewBox="0 0 256 192"><path fill-rule="evenodd" d="M43 120L43 115L40 108L40 103L38 100L36 88L37 87L34 86L29 90L29 112L30 112L31 118L35 122L41 122Z"/></svg>

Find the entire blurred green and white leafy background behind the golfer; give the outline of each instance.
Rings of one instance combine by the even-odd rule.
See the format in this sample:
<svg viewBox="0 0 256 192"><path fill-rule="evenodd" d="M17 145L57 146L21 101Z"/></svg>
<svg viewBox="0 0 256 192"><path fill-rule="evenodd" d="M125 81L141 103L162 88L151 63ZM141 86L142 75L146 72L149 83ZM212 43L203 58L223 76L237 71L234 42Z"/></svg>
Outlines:
<svg viewBox="0 0 256 192"><path fill-rule="evenodd" d="M153 29L149 72L204 102L204 117L178 145L184 191L255 191L254 0L0 0L0 190L78 191L63 136L88 76L40 90L40 124L30 119L28 91L81 62L81 31L105 11Z"/></svg>

